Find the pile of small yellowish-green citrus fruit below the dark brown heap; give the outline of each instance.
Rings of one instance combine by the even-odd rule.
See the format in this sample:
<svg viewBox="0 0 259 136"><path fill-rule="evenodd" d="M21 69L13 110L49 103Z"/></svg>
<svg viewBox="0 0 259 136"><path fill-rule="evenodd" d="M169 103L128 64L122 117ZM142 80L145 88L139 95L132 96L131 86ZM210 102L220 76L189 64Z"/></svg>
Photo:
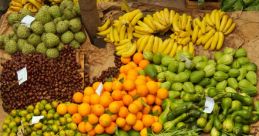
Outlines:
<svg viewBox="0 0 259 136"><path fill-rule="evenodd" d="M69 114L60 116L56 111L57 101L46 100L29 105L25 109L12 110L3 122L2 136L81 136L77 125ZM44 116L39 122L32 124L32 119Z"/></svg>

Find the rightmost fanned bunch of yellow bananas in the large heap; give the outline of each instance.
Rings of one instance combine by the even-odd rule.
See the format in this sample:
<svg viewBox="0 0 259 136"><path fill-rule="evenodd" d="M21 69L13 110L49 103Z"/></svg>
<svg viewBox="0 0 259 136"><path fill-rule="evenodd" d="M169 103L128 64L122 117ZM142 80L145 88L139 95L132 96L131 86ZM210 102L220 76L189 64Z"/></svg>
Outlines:
<svg viewBox="0 0 259 136"><path fill-rule="evenodd" d="M202 20L193 21L192 42L196 45L204 45L204 49L221 49L225 35L230 34L236 27L236 23L221 10L213 10L207 13Z"/></svg>

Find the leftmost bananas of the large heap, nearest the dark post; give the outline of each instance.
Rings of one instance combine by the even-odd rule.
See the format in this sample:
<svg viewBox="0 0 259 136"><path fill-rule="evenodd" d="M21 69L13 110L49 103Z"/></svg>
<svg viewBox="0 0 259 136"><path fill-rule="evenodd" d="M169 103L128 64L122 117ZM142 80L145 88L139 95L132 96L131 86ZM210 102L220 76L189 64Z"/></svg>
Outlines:
<svg viewBox="0 0 259 136"><path fill-rule="evenodd" d="M118 43L124 39L133 39L136 37L134 33L135 25L143 17L143 13L137 9L132 12L128 12L119 19L114 20L113 23L110 19L107 19L105 23L98 27L97 35L105 37L106 42Z"/></svg>

